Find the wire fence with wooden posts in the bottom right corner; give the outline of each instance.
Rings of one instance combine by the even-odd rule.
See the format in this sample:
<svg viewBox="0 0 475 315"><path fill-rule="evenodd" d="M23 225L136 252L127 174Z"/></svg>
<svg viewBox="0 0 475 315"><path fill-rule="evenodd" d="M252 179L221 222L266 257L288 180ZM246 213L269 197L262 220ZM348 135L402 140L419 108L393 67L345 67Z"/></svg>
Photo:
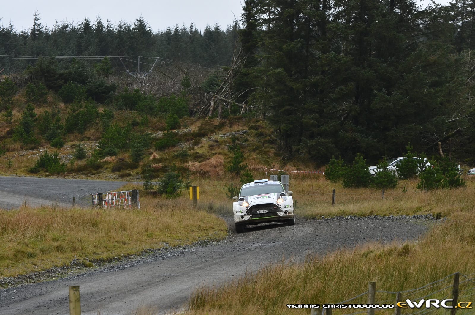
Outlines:
<svg viewBox="0 0 475 315"><path fill-rule="evenodd" d="M373 288L373 289L371 289ZM475 314L475 273L453 273L418 288L401 291L375 290L370 282L368 291L333 305L354 305L354 308L322 307L312 309L312 315L354 314ZM398 304L399 302L399 304ZM387 308L365 308L364 305L390 305ZM327 305L331 306L331 305ZM351 312L350 310L354 310ZM364 310L363 310L364 309ZM350 312L348 312L350 311Z"/></svg>

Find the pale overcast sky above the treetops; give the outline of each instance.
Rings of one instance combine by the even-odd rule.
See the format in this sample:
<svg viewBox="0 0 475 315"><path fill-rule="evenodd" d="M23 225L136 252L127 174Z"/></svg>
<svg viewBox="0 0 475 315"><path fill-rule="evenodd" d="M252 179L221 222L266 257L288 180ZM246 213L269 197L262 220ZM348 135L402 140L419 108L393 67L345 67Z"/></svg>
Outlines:
<svg viewBox="0 0 475 315"><path fill-rule="evenodd" d="M97 15L104 21L118 24L124 20L133 23L142 16L154 32L173 27L175 24L186 26L193 21L199 30L215 23L223 29L231 24L235 17L240 18L243 0L23 0L20 2L2 0L0 24L11 23L15 30L29 29L33 25L33 15L38 10L44 26L53 27L55 21L82 21L89 18L94 22ZM243 1L244 2L244 1ZM417 0L426 4L429 0ZM446 4L448 0L436 0Z"/></svg>

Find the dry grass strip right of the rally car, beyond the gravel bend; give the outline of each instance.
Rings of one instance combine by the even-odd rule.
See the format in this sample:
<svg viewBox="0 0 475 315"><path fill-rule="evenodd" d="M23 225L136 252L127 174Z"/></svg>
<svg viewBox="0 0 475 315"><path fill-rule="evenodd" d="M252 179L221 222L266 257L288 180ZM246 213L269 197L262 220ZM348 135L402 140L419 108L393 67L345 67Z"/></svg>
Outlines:
<svg viewBox="0 0 475 315"><path fill-rule="evenodd" d="M314 175L315 176L315 175ZM459 189L418 191L417 180L401 181L395 189L384 192L376 189L348 189L332 184L323 177L298 180L291 175L290 190L299 216L306 218L370 215L420 215L449 216L475 208L474 180L465 176L467 187ZM332 207L332 190L335 189L335 206Z"/></svg>

